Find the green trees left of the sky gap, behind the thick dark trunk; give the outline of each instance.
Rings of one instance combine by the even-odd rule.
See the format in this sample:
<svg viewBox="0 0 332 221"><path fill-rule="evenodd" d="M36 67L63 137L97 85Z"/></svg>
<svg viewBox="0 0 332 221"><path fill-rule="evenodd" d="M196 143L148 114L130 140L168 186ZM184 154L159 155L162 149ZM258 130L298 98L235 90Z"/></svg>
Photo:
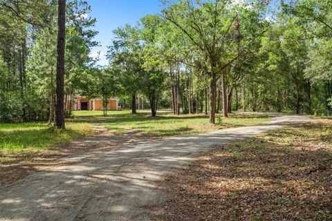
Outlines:
<svg viewBox="0 0 332 221"><path fill-rule="evenodd" d="M54 121L57 9L56 0L0 0L0 122ZM65 99L95 63L90 10L85 1L66 3Z"/></svg>

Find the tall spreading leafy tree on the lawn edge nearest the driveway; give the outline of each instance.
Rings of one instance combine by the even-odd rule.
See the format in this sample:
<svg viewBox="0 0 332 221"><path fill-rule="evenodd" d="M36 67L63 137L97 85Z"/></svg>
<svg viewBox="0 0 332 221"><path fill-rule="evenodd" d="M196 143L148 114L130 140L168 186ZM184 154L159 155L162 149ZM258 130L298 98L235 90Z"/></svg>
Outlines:
<svg viewBox="0 0 332 221"><path fill-rule="evenodd" d="M179 28L189 39L196 50L201 52L205 75L210 82L210 123L215 123L216 83L221 78L223 91L223 116L227 117L227 95L225 75L227 68L250 45L253 39L262 32L262 22L259 20L261 6L259 3L230 3L229 1L193 1L181 0L170 3L163 10L163 17ZM236 39L234 22L238 17L248 27L243 35L243 44L239 53L232 46ZM253 28L259 27L259 28Z"/></svg>

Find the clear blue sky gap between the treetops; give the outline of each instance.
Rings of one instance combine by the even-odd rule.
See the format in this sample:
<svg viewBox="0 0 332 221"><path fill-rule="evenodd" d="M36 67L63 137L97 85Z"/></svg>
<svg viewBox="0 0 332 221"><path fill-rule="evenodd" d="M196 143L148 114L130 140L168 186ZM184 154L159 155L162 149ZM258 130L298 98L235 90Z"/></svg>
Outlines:
<svg viewBox="0 0 332 221"><path fill-rule="evenodd" d="M91 56L97 56L100 51L98 64L107 64L107 46L111 44L112 31L124 24L135 25L141 17L160 12L162 3L159 0L88 0L91 6L89 16L95 17L97 23L95 30L99 34L95 37L100 42L100 47L93 48Z"/></svg>

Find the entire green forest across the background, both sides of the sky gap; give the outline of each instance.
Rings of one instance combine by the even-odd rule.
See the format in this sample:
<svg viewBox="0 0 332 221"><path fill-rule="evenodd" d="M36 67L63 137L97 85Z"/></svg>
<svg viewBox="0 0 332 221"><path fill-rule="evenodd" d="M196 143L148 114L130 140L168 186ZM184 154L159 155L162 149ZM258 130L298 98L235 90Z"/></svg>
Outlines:
<svg viewBox="0 0 332 221"><path fill-rule="evenodd" d="M62 86L60 2L0 0L0 122L54 122L75 95L120 97L122 108L152 116L205 113L212 124L232 111L331 114L329 0L275 10L268 1L163 1L158 15L113 31L108 66L90 56L98 46L91 7L67 1Z"/></svg>

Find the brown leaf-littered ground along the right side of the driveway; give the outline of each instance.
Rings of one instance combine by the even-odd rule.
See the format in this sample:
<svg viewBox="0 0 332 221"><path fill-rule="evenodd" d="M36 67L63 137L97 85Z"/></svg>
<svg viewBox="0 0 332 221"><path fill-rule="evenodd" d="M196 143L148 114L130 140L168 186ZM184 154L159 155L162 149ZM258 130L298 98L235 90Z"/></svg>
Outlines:
<svg viewBox="0 0 332 221"><path fill-rule="evenodd" d="M332 220L331 174L332 120L316 119L219 146L169 175L156 220Z"/></svg>

